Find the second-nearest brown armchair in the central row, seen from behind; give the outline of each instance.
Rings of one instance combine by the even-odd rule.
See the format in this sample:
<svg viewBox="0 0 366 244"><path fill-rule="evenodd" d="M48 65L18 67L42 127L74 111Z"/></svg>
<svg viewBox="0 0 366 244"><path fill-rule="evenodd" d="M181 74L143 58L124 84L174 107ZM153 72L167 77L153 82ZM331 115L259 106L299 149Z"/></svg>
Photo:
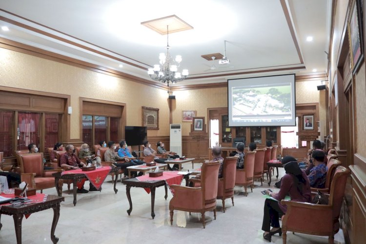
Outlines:
<svg viewBox="0 0 366 244"><path fill-rule="evenodd" d="M223 165L223 177L219 178L216 199L223 201L223 212L225 212L225 199L231 198L234 206L234 186L237 159L238 156L225 158Z"/></svg>

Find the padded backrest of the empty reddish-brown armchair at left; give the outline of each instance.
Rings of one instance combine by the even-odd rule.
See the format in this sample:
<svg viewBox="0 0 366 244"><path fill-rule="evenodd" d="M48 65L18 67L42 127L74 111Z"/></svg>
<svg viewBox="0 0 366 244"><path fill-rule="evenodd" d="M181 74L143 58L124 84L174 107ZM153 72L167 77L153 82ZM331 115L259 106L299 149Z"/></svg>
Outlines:
<svg viewBox="0 0 366 244"><path fill-rule="evenodd" d="M43 153L20 155L21 173L36 173L36 177L43 176Z"/></svg>

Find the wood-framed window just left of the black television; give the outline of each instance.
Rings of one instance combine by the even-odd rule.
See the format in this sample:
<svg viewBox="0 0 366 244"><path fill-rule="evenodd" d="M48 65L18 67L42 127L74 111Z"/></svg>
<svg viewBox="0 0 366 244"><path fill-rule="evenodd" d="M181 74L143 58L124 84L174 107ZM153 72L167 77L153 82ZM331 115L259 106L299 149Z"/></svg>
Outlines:
<svg viewBox="0 0 366 244"><path fill-rule="evenodd" d="M82 141L89 145L99 144L99 141L113 140L118 143L120 118L82 115ZM108 130L109 128L109 130Z"/></svg>

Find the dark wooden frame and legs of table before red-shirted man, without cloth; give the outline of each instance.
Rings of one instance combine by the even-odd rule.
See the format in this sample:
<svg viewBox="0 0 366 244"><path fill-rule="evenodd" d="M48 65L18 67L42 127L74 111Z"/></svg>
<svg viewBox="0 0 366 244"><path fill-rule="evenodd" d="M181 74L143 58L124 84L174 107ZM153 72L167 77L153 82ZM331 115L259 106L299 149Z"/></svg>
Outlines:
<svg viewBox="0 0 366 244"><path fill-rule="evenodd" d="M117 184L117 175L118 175L118 172L121 170L121 167L114 167L114 168L111 168L111 170L109 171L109 174L110 173L115 173L116 174L116 177L114 177L114 186L113 186L113 190L114 192L117 194L118 192L118 189L116 189L116 184ZM78 182L79 179L87 179L87 177L84 175L84 174L64 174L61 176L61 173L54 173L52 174L53 177L55 177L55 186L56 186L56 190L57 190L57 195L59 197L62 196L62 184L59 185L59 180L60 179L65 179L65 180L72 180L73 182L73 195L74 195L74 206L76 205L76 192L78 190L78 187L76 185L76 183ZM60 188L59 188L60 187Z"/></svg>

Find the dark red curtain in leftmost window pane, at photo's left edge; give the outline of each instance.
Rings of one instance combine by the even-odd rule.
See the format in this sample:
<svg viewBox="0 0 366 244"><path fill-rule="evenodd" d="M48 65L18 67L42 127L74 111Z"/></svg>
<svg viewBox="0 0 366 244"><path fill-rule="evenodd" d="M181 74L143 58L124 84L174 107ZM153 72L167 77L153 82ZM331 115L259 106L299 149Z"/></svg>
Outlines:
<svg viewBox="0 0 366 244"><path fill-rule="evenodd" d="M14 154L13 125L14 112L0 111L0 152L4 152L4 157Z"/></svg>

